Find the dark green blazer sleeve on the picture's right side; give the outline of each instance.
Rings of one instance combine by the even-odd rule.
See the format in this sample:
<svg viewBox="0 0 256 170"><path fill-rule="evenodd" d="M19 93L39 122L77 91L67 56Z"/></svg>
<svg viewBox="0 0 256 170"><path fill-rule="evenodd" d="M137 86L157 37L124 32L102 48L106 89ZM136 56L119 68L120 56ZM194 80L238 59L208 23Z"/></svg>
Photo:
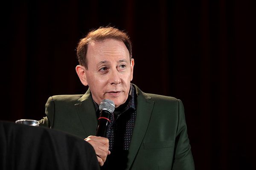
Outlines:
<svg viewBox="0 0 256 170"><path fill-rule="evenodd" d="M175 159L173 162L173 170L195 170L195 165L189 144L187 134L184 107L178 100L178 124L175 140Z"/></svg>

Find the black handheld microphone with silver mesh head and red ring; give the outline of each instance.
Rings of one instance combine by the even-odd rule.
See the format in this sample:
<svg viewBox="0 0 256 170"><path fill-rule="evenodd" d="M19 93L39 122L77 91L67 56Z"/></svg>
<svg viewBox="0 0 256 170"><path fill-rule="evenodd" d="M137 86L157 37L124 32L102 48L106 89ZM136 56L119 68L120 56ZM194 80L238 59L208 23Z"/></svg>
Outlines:
<svg viewBox="0 0 256 170"><path fill-rule="evenodd" d="M110 117L115 110L115 104L110 99L104 99L99 105L99 119L96 136L106 137L107 128L110 123Z"/></svg>

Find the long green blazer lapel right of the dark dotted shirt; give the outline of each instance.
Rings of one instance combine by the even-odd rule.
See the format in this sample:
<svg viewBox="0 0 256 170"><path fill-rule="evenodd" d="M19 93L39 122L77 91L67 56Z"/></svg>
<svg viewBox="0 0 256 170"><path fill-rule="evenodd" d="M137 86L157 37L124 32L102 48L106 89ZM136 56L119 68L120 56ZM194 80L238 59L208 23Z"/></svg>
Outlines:
<svg viewBox="0 0 256 170"><path fill-rule="evenodd" d="M151 113L154 108L154 101L151 100L151 97L140 91L136 85L134 86L137 91L137 115L129 148L127 169L130 169L144 139Z"/></svg>

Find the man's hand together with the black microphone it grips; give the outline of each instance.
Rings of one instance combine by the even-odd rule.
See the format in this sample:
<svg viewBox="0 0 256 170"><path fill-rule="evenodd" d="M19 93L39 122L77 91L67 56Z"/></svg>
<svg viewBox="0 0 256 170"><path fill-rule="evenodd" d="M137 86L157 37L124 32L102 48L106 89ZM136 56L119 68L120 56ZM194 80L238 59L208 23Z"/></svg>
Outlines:
<svg viewBox="0 0 256 170"><path fill-rule="evenodd" d="M104 162L107 159L107 156L110 154L108 150L109 143L108 138L106 138L108 125L110 123L110 117L113 111L115 110L115 104L110 99L104 99L99 105L99 118L98 126L96 130L96 136L88 136L84 140L89 142L97 155L100 166L103 166Z"/></svg>

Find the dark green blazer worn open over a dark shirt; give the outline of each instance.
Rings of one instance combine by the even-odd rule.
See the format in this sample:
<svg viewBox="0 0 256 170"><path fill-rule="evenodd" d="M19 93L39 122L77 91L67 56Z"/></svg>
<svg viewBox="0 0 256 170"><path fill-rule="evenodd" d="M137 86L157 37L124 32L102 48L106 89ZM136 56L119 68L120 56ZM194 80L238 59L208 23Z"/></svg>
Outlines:
<svg viewBox="0 0 256 170"><path fill-rule="evenodd" d="M137 116L127 170L194 170L183 104L168 96L145 94L136 85ZM41 125L82 139L95 135L96 111L90 89L84 95L49 97Z"/></svg>

